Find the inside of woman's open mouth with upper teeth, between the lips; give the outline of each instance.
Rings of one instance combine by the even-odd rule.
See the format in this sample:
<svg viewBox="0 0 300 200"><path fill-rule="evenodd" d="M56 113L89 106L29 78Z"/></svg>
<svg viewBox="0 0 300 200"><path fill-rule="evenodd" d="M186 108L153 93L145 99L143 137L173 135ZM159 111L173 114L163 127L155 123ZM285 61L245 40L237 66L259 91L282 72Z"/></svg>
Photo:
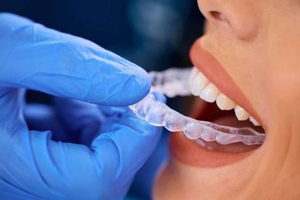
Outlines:
<svg viewBox="0 0 300 200"><path fill-rule="evenodd" d="M250 116L244 108L220 92L220 90L196 67L193 67L190 74L189 88L194 96L200 97L196 100L196 107L193 109L194 111L190 116L193 119L209 121L222 126L236 128L248 127L259 133L264 133L264 130L254 117ZM247 135L248 133L244 131L242 134ZM250 151L260 146L245 145L241 143L221 145L214 141L207 142L201 138L198 138L195 141L209 150L231 153Z"/></svg>

